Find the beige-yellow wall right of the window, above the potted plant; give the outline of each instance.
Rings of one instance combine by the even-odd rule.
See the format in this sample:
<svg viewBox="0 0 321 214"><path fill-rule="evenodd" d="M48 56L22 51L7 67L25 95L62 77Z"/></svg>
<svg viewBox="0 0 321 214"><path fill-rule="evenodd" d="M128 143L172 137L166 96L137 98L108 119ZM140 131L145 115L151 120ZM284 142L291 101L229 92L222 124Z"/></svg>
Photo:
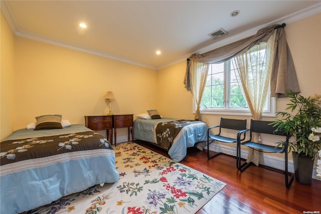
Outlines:
<svg viewBox="0 0 321 214"><path fill-rule="evenodd" d="M301 95L321 94L321 13L285 27Z"/></svg>

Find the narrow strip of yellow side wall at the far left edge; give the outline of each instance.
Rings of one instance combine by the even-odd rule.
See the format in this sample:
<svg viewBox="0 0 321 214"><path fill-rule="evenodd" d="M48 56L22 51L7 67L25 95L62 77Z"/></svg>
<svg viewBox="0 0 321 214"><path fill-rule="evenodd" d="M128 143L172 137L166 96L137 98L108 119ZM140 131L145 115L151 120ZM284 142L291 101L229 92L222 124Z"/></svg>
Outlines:
<svg viewBox="0 0 321 214"><path fill-rule="evenodd" d="M1 12L1 113L0 113L0 137L4 139L14 131L14 119L16 106L14 105L14 46L15 36L11 31L6 18Z"/></svg>

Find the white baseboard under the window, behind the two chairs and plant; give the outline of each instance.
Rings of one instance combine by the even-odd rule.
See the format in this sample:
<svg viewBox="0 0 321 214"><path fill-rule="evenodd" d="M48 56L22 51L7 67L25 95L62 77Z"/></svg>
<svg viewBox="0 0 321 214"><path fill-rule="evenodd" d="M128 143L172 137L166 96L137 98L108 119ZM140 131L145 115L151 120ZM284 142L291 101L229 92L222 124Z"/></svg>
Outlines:
<svg viewBox="0 0 321 214"><path fill-rule="evenodd" d="M224 154L236 156L236 148L221 145L217 143L211 143L210 144L210 150L215 152L223 152ZM241 149L241 158L247 159L248 151L245 149ZM289 153L289 155L291 155ZM277 169L284 170L284 159L279 157L274 157L271 155L268 155L267 153L264 154L264 165L274 167ZM294 173L294 166L293 161L288 160L288 171ZM313 166L313 172L312 172L312 178L320 180L316 177L316 165Z"/></svg>

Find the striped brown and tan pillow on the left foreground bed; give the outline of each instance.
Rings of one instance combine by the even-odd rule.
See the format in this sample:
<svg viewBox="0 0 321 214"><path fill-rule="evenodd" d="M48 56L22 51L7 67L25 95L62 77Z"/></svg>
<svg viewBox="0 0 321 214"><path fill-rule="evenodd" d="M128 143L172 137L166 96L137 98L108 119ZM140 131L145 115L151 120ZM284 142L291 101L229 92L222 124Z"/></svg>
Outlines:
<svg viewBox="0 0 321 214"><path fill-rule="evenodd" d="M41 129L61 129L61 115L42 115L36 117L36 127L34 130Z"/></svg>

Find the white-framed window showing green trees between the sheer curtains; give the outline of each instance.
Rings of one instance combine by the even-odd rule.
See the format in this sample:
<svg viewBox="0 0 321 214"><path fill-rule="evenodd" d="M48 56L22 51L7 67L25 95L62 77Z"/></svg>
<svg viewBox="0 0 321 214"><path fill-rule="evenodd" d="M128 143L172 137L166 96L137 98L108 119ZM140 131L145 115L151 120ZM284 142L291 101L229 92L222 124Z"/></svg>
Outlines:
<svg viewBox="0 0 321 214"><path fill-rule="evenodd" d="M251 115L231 64L227 61L210 65L201 102L202 114ZM269 93L262 116L275 117L275 98L270 98Z"/></svg>

